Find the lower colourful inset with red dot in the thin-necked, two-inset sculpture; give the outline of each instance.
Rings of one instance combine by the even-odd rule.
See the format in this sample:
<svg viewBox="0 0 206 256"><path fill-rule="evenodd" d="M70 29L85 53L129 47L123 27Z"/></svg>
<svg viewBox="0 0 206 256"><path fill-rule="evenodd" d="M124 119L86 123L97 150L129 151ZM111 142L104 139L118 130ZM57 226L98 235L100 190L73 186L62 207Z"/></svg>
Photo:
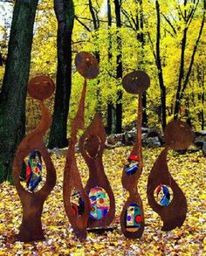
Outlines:
<svg viewBox="0 0 206 256"><path fill-rule="evenodd" d="M138 204L129 204L126 211L127 232L137 232L141 227L142 215Z"/></svg>

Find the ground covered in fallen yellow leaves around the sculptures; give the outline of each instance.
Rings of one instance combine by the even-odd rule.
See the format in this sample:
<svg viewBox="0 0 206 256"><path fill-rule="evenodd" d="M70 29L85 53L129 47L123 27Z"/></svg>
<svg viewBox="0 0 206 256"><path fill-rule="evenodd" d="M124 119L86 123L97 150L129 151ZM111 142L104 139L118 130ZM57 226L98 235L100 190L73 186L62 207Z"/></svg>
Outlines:
<svg viewBox="0 0 206 256"><path fill-rule="evenodd" d="M161 232L161 219L148 206L146 187L148 173L161 149L144 149L144 170L139 180L139 190L145 209L145 231L141 239L126 239L120 230L120 211L127 192L123 191L120 178L122 164L131 148L106 150L104 164L106 174L116 198L116 214L111 226L113 232L88 233L81 243L72 233L65 215L62 199L62 182L65 158L52 156L58 173L57 185L47 198L42 216L45 241L24 244L10 243L18 232L22 207L15 187L0 185L0 255L203 255L206 253L205 237L205 158L201 152L178 155L170 152L168 166L175 181L188 200L187 219L181 228ZM78 155L79 169L86 183L88 170Z"/></svg>

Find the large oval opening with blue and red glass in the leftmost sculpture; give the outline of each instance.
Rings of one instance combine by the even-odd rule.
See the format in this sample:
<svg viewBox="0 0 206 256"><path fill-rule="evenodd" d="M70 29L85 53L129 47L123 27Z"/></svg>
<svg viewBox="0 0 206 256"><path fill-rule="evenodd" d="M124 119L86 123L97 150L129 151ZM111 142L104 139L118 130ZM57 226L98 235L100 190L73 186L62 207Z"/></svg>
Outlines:
<svg viewBox="0 0 206 256"><path fill-rule="evenodd" d="M25 179L20 176L20 180L23 180L22 186L31 193L41 190L45 185L46 173L44 172L45 162L40 152L38 150L32 151L24 159L24 163L26 165Z"/></svg>

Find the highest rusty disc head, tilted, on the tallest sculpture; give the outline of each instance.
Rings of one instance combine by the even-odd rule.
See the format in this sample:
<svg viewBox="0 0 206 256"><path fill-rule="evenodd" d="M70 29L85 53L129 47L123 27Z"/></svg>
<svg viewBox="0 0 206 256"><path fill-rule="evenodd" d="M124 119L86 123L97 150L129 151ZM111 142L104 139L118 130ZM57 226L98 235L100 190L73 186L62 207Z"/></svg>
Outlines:
<svg viewBox="0 0 206 256"><path fill-rule="evenodd" d="M99 64L89 52L79 52L75 58L77 71L86 79L92 80L98 76Z"/></svg>

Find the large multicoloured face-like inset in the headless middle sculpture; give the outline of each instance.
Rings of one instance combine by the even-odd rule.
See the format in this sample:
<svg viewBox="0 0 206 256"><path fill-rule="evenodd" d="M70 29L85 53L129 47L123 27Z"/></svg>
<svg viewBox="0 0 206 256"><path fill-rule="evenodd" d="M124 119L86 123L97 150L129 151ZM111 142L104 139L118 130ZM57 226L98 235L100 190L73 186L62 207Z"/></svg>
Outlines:
<svg viewBox="0 0 206 256"><path fill-rule="evenodd" d="M100 219L106 216L109 211L109 197L101 187L94 187L89 190L91 204L90 218Z"/></svg>

